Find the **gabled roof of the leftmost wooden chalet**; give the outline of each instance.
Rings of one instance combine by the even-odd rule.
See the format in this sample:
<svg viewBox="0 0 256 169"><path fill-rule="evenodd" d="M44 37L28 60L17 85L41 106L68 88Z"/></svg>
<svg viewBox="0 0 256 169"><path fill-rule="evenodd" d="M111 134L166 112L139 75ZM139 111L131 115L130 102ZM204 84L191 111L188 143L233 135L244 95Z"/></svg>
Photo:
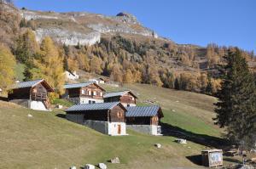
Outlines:
<svg viewBox="0 0 256 169"><path fill-rule="evenodd" d="M28 82L17 82L14 85L12 85L10 89L35 87L41 82L44 83L44 86L47 88L49 92L54 92L54 89L50 87L49 84L46 81L44 81L44 79L38 79L35 81L28 81Z"/></svg>

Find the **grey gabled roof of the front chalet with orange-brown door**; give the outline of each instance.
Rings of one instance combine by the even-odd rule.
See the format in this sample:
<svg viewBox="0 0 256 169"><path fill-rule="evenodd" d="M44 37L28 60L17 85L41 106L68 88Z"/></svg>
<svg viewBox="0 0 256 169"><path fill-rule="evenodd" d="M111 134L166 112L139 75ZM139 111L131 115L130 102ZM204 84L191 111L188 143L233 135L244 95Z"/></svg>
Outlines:
<svg viewBox="0 0 256 169"><path fill-rule="evenodd" d="M66 111L111 110L116 105L119 105L124 110L126 110L125 107L122 104L120 104L119 102L109 102L109 103L99 103L99 104L78 104L78 105L73 105L72 107L68 108Z"/></svg>

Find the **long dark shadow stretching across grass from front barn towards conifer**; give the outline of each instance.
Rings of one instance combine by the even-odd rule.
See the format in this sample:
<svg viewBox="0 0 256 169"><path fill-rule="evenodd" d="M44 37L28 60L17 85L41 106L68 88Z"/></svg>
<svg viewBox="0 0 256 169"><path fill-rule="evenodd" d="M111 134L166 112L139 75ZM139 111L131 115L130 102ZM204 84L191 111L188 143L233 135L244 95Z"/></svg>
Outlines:
<svg viewBox="0 0 256 169"><path fill-rule="evenodd" d="M201 144L201 145L216 148L216 149L222 149L230 145L228 140L224 138L218 138L214 136L209 136L207 134L190 132L190 131L184 130L183 128L175 127L167 123L161 123L160 125L162 127L162 134L164 136L183 138L195 144Z"/></svg>

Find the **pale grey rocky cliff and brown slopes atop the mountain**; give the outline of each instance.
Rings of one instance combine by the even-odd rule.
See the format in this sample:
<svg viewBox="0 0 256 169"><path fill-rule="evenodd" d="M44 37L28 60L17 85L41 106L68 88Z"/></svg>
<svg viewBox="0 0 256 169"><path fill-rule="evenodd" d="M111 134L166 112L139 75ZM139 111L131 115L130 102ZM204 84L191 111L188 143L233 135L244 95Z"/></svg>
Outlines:
<svg viewBox="0 0 256 169"><path fill-rule="evenodd" d="M157 34L143 27L131 14L116 16L89 13L55 13L20 10L20 16L35 23L38 41L49 36L67 45L93 45L100 42L102 34L131 34L158 38Z"/></svg>

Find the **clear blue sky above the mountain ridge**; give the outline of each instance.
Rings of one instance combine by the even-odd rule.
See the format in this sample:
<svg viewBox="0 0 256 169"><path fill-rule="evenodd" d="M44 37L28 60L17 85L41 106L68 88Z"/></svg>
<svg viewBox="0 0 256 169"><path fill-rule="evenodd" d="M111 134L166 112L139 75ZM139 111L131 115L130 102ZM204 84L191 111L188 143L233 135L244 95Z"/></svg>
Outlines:
<svg viewBox="0 0 256 169"><path fill-rule="evenodd" d="M15 5L107 15L125 11L177 43L215 42L256 53L256 0L15 0Z"/></svg>

